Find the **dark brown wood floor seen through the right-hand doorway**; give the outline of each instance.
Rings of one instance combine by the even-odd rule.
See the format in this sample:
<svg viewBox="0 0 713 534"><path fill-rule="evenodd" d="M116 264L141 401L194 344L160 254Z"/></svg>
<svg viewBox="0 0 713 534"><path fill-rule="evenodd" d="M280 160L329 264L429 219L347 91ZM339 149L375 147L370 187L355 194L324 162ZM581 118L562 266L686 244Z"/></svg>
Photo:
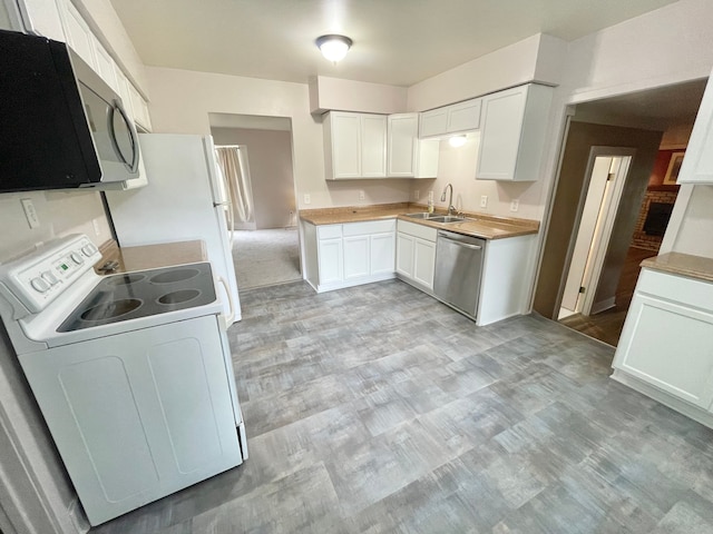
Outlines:
<svg viewBox="0 0 713 534"><path fill-rule="evenodd" d="M616 347L622 336L626 313L632 304L636 280L641 273L641 263L658 253L644 248L631 247L626 255L626 261L622 268L618 285L616 287L615 306L595 315L574 314L560 319L559 323L568 328L586 334L599 339L613 347Z"/></svg>

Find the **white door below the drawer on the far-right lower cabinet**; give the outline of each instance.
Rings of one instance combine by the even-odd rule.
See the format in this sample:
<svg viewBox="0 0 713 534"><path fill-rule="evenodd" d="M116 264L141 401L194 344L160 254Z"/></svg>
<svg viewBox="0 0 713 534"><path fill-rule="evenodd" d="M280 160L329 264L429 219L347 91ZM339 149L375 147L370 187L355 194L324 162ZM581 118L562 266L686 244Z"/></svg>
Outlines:
<svg viewBox="0 0 713 534"><path fill-rule="evenodd" d="M713 314L635 294L614 367L705 409L713 400Z"/></svg>

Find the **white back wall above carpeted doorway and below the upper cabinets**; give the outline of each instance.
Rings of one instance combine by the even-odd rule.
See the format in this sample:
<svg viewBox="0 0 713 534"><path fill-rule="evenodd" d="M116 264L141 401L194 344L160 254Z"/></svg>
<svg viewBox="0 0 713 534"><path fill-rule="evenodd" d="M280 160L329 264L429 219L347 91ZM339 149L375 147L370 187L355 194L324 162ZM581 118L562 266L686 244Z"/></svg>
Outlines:
<svg viewBox="0 0 713 534"><path fill-rule="evenodd" d="M306 83L261 80L188 70L146 69L155 132L211 134L208 113L287 117L292 120L297 207L387 204L409 198L410 180L349 180L328 184L321 117L310 115ZM364 200L359 200L359 191ZM304 204L309 194L311 204Z"/></svg>

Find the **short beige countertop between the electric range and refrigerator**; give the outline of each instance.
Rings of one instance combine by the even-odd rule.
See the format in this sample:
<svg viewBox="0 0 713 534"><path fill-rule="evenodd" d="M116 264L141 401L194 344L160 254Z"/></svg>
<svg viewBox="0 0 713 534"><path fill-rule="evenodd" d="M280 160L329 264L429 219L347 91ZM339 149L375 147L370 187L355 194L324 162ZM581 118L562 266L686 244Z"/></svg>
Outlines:
<svg viewBox="0 0 713 534"><path fill-rule="evenodd" d="M100 251L101 261L95 266L95 270L107 261L119 264L116 269L109 273L97 270L100 275L195 264L207 259L205 243L199 239L138 247L119 247L115 240L109 240L100 247Z"/></svg>

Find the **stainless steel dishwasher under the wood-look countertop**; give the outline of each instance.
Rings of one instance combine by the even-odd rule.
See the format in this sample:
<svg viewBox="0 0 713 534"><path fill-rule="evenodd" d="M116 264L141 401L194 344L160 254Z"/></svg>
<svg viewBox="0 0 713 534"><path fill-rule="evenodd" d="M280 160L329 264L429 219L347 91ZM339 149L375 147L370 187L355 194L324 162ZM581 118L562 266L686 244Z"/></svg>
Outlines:
<svg viewBox="0 0 713 534"><path fill-rule="evenodd" d="M439 230L433 293L439 300L476 317L486 240Z"/></svg>

